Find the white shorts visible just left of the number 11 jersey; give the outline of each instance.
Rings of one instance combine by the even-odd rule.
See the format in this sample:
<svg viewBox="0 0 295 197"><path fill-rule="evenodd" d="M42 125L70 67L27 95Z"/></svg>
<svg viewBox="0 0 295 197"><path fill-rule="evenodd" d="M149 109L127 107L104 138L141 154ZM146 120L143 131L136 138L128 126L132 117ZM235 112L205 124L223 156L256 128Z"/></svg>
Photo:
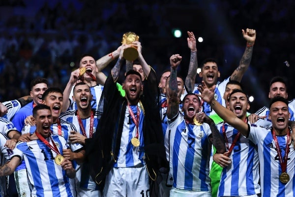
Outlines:
<svg viewBox="0 0 295 197"><path fill-rule="evenodd" d="M19 197L30 197L32 186L29 183L27 169L14 171L14 178Z"/></svg>

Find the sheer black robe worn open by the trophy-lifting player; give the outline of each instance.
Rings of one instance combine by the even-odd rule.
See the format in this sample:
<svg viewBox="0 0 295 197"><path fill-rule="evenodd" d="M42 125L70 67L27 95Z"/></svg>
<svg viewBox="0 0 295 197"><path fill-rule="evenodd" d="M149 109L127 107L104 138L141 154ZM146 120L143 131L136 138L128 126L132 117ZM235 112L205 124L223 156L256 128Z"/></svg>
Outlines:
<svg viewBox="0 0 295 197"><path fill-rule="evenodd" d="M160 92L157 85L156 73L151 68L144 84L143 95L140 97L145 114L143 135L150 178L150 195L153 193L151 190L156 190L153 186L157 185L155 180L159 169L169 167L159 113ZM103 114L94 137L86 139L85 143L86 162L89 163L90 175L99 186L103 186L106 175L117 162L126 106L127 99L120 96L110 73L99 102L98 111L103 110Z"/></svg>

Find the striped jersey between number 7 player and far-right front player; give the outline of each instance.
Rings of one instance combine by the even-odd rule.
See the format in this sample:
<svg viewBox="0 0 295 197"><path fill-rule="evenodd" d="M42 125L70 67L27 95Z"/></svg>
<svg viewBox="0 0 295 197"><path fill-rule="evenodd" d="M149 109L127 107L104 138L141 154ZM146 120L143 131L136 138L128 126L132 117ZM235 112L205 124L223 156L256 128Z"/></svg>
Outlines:
<svg viewBox="0 0 295 197"><path fill-rule="evenodd" d="M231 147L238 131L227 123L219 123L218 130L226 132ZM243 135L239 136L231 155L232 164L222 168L218 197L260 194L259 159L256 145Z"/></svg>

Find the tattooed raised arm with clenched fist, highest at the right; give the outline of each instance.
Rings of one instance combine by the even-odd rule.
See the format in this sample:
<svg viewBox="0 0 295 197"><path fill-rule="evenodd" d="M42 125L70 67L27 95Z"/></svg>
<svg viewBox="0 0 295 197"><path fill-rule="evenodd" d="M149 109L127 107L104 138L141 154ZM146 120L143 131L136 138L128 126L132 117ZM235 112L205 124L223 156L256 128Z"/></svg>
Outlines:
<svg viewBox="0 0 295 197"><path fill-rule="evenodd" d="M253 29L247 28L246 31L242 30L242 33L243 37L247 41L247 45L238 67L231 75L231 80L235 80L238 82L242 80L243 74L246 72L250 65L252 59L253 46L256 39L256 31Z"/></svg>

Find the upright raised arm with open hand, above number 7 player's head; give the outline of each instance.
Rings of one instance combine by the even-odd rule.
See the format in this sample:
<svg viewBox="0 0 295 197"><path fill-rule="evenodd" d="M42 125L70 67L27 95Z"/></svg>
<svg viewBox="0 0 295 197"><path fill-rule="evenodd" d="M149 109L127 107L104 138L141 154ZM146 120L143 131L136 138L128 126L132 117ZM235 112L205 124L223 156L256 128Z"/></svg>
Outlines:
<svg viewBox="0 0 295 197"><path fill-rule="evenodd" d="M196 47L196 38L193 32L187 32L187 46L191 50L191 56L189 60L188 72L185 78L185 86L188 93L192 93L195 87L198 60L197 60L197 47Z"/></svg>

